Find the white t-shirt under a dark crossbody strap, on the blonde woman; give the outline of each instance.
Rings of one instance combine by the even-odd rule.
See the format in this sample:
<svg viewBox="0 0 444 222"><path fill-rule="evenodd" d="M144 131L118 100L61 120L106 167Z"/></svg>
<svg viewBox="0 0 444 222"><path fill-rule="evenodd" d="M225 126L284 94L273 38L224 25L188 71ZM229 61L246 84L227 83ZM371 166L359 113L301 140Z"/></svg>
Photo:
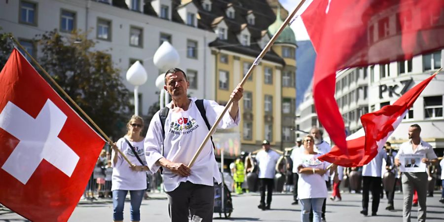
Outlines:
<svg viewBox="0 0 444 222"><path fill-rule="evenodd" d="M140 159L145 165L147 165L144 158L144 141L132 142L128 140L128 142L131 143L133 148L136 150L137 155L139 155ZM125 142L125 139L120 138L115 145L122 150L130 162L137 166L142 165L139 160L137 160L133 150L131 150L131 148ZM115 164L111 160L111 166L113 167L111 190L141 190L147 188L147 172L131 170L128 162L123 159L122 155L118 155L117 162Z"/></svg>

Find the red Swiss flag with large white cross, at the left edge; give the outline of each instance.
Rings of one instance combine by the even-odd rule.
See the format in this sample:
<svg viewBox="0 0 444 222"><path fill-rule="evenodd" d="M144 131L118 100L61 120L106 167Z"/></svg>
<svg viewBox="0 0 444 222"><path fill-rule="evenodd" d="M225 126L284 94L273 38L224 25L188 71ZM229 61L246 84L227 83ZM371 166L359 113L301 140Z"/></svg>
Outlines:
<svg viewBox="0 0 444 222"><path fill-rule="evenodd" d="M0 202L33 222L66 222L105 141L14 49L0 73Z"/></svg>

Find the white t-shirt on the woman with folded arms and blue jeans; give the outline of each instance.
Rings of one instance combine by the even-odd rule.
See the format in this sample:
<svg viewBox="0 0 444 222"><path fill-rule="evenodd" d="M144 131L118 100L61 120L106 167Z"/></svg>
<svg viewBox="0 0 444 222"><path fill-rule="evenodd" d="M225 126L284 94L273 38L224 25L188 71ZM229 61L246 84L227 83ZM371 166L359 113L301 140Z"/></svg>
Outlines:
<svg viewBox="0 0 444 222"><path fill-rule="evenodd" d="M301 153L297 156L293 163L296 167L310 167L314 169L326 169L328 163L318 160L321 154L305 154ZM299 174L297 181L297 198L327 198L327 185L324 177L319 174Z"/></svg>

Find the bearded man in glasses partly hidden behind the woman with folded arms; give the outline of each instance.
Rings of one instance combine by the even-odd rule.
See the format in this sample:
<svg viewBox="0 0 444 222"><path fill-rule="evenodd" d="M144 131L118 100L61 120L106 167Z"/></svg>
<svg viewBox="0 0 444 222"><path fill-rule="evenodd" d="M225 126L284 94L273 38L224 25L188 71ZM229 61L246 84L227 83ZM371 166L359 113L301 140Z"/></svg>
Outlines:
<svg viewBox="0 0 444 222"><path fill-rule="evenodd" d="M323 134L324 134L324 131L316 126L313 126L310 130L310 135L315 140L315 152L317 152L321 155L324 155L324 154L330 152L330 150L332 150L332 147L330 146L330 144L323 140L323 138L322 138ZM328 163L328 165L330 165L330 163ZM336 166L333 166L332 168L330 168L330 170L335 171ZM329 187L330 186L330 171L327 171L324 174L324 180L325 180L326 186ZM324 203L322 205L322 222L326 222L326 219L325 219L325 211L326 211L326 204L327 204L326 199L324 199ZM313 218L313 209L310 212L310 219L311 218Z"/></svg>

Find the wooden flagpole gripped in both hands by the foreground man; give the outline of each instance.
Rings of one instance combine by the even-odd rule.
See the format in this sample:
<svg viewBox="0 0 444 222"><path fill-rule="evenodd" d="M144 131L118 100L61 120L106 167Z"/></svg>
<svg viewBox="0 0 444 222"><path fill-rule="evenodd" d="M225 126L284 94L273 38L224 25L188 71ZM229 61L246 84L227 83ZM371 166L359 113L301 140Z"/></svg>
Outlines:
<svg viewBox="0 0 444 222"><path fill-rule="evenodd" d="M268 50L270 50L271 45L273 45L273 43L276 41L277 37L282 33L284 28L290 23L290 21L293 19L293 17L295 17L296 12L299 10L299 8L302 6L302 4L304 2L305 2L305 0L301 0L299 2L297 7L295 8L295 10L293 10L293 12L291 14L289 14L287 19L285 19L284 23L282 23L282 25L279 28L279 30L274 34L273 37L271 37L270 41L268 41L267 45L262 49L262 51L260 52L259 56L256 58L255 62L253 63L253 65L248 70L247 74L244 76L244 78L240 82L240 86L243 86L245 84L245 81L253 73L253 70L255 69L255 67L259 65L260 60L265 56L265 54L268 52ZM200 144L200 147L197 149L196 153L194 154L193 158L191 159L191 162L188 164L188 167L191 167L194 164L194 162L197 159L197 156L199 156L199 153L202 151L203 147L208 142L208 140L210 139L211 135L213 135L213 133L216 132L217 125L219 124L219 122L221 122L223 115L225 114L226 111L228 111L228 108L231 106L232 103L233 103L233 99L230 98L228 100L228 103L225 105L225 109L223 109L222 113L219 115L219 117L216 119L216 122L211 127L210 132L208 132L208 134L205 137L204 141Z"/></svg>

